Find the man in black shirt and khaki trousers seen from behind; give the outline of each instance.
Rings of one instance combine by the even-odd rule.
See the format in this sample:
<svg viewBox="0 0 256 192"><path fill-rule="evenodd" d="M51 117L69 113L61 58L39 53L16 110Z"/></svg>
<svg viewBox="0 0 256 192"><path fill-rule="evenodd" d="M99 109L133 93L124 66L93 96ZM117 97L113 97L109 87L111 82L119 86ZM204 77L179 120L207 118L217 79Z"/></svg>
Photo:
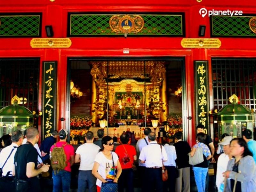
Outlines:
<svg viewBox="0 0 256 192"><path fill-rule="evenodd" d="M175 160L178 170L179 177L176 179L175 191L181 192L182 179L184 183L183 191L190 191L190 165L188 164L188 153L191 148L187 141L182 140L182 132L177 132L174 135L175 143L173 146L176 150L177 159Z"/></svg>

